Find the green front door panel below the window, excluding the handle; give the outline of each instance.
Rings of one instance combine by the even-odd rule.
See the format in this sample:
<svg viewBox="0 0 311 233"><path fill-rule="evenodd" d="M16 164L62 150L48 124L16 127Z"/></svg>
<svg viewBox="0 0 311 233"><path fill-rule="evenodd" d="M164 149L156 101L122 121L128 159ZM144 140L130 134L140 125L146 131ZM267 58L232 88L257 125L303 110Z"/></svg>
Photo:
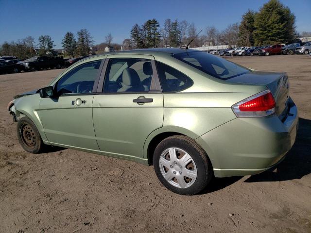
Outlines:
<svg viewBox="0 0 311 233"><path fill-rule="evenodd" d="M80 98L85 104L72 101ZM92 114L94 95L62 95L57 99L42 98L39 115L49 142L99 150Z"/></svg>

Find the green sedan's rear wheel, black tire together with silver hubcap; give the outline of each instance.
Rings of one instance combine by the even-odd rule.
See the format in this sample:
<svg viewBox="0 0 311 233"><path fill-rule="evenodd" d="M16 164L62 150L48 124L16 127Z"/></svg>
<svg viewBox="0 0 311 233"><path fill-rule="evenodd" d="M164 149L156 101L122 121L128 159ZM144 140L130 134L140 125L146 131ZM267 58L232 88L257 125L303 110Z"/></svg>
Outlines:
<svg viewBox="0 0 311 233"><path fill-rule="evenodd" d="M213 178L206 152L186 136L171 136L160 142L153 163L160 182L177 194L194 195Z"/></svg>

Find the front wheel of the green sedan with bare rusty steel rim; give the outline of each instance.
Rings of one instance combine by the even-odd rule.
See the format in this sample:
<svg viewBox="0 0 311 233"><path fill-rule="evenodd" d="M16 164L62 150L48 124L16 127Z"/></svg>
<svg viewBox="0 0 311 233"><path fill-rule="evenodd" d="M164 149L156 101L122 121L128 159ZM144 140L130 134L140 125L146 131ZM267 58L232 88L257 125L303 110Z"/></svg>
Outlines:
<svg viewBox="0 0 311 233"><path fill-rule="evenodd" d="M37 154L44 149L40 133L34 122L27 116L20 118L17 122L17 137L19 144L27 152Z"/></svg>

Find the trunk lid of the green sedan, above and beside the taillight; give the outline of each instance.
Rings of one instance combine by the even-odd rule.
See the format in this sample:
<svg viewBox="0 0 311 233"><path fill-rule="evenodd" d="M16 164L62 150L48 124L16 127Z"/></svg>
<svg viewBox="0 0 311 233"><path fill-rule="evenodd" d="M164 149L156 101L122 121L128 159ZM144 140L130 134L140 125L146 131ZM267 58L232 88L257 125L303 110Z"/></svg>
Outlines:
<svg viewBox="0 0 311 233"><path fill-rule="evenodd" d="M230 83L266 85L276 101L276 115L283 120L287 116L289 81L286 73L251 71L226 80Z"/></svg>

